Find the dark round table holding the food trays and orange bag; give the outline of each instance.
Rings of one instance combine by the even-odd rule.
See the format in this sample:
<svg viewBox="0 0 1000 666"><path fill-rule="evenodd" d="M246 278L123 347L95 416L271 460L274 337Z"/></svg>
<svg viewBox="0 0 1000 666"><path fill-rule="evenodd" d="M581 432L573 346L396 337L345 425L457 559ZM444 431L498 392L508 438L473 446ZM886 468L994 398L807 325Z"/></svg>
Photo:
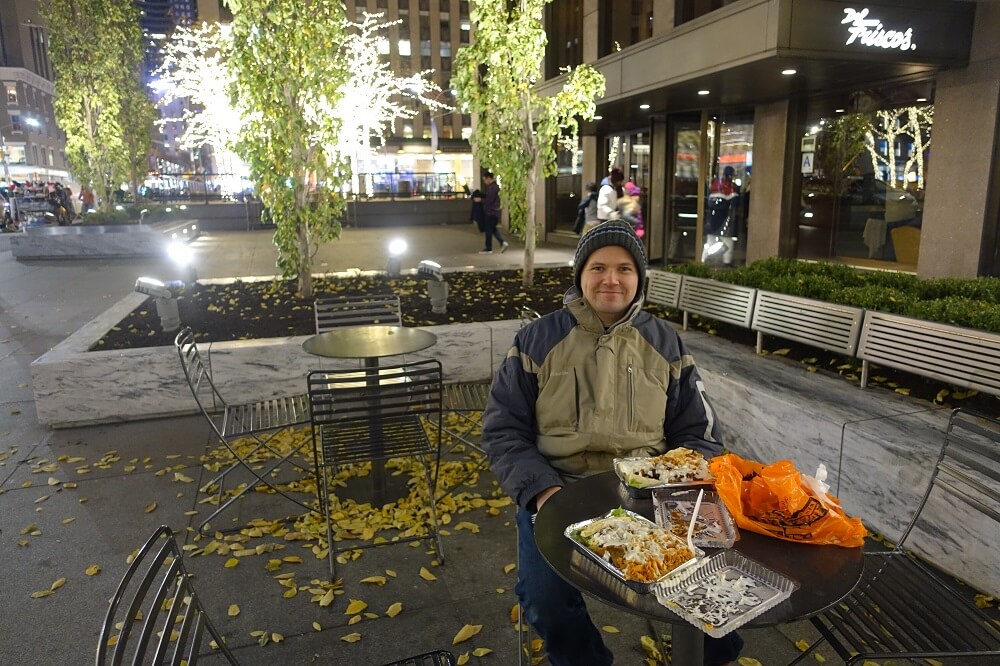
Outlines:
<svg viewBox="0 0 1000 666"><path fill-rule="evenodd" d="M628 497L614 472L567 485L542 505L535 520L535 541L542 557L584 594L630 613L671 623L673 663L703 663L701 630L660 605L655 595L639 594L626 587L564 536L568 525L596 518L618 506L653 519L652 501ZM864 569L861 548L797 544L747 530L740 531L733 549L799 584L791 597L745 625L751 627L799 620L829 608L854 589ZM705 550L708 555L718 552Z"/></svg>

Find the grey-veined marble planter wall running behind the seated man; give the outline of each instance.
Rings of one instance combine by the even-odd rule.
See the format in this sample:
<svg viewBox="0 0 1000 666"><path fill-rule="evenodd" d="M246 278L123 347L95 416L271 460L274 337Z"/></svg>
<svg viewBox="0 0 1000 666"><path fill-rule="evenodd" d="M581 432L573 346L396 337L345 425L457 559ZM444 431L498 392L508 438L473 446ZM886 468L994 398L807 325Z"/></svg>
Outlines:
<svg viewBox="0 0 1000 666"><path fill-rule="evenodd" d="M145 297L130 294L32 363L38 418L55 427L190 413L195 405L173 347L87 352ZM487 380L520 322L429 327L434 347L407 358L441 360L447 381ZM682 334L694 355L726 446L764 462L790 458L829 471L831 492L870 529L898 538L917 506L944 441L949 412L903 396L860 390L714 336ZM309 370L355 367L302 351L304 337L202 345L224 395L240 401L304 390ZM484 353L486 352L486 353ZM339 363L339 365L334 365ZM995 527L932 496L928 524L913 541L938 566L1000 593ZM912 538L912 537L911 537Z"/></svg>

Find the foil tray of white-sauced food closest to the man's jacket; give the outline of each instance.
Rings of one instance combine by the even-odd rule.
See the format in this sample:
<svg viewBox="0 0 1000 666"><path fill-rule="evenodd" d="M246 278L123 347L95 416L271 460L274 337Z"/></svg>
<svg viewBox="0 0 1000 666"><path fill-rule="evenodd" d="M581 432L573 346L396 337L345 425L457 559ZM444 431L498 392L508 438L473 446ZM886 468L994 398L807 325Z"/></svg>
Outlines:
<svg viewBox="0 0 1000 666"><path fill-rule="evenodd" d="M648 458L615 458L615 474L629 497L647 498L654 488L687 488L715 483L708 460L697 451L677 448Z"/></svg>

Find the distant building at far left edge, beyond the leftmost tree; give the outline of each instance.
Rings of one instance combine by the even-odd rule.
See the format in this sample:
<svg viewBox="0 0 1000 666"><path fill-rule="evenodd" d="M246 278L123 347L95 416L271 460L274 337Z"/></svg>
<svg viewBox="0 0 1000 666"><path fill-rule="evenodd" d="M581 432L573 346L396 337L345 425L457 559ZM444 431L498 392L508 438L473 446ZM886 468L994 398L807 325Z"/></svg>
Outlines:
<svg viewBox="0 0 1000 666"><path fill-rule="evenodd" d="M54 78L38 0L5 0L0 9L0 146L11 180L69 180L66 137L52 110Z"/></svg>

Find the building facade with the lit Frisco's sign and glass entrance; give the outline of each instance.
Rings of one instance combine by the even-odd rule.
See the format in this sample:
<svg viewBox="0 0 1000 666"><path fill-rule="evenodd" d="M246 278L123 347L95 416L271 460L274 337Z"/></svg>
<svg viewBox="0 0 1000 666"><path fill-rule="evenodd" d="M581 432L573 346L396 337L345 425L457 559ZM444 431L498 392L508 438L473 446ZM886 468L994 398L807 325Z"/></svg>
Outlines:
<svg viewBox="0 0 1000 666"><path fill-rule="evenodd" d="M584 183L618 165L654 263L1000 275L996 3L554 0L545 20L543 92L562 66L607 79L583 159L537 193L550 240L575 242Z"/></svg>

